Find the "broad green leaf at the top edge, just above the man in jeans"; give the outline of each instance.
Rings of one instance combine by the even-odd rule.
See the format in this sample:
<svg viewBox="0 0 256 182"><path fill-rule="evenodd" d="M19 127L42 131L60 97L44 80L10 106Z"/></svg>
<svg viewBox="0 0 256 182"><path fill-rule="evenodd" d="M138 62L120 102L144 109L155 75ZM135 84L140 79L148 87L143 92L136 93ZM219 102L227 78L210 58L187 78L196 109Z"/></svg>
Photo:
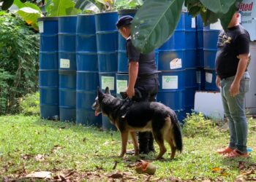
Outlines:
<svg viewBox="0 0 256 182"><path fill-rule="evenodd" d="M236 0L200 0L201 3L211 12L227 13L228 9L235 3Z"/></svg>

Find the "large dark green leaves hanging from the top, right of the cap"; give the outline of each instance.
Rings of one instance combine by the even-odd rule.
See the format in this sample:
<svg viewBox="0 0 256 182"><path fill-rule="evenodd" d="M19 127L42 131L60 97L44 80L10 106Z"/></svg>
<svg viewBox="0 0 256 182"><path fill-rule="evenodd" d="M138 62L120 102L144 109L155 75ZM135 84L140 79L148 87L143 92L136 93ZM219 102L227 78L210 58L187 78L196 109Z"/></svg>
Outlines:
<svg viewBox="0 0 256 182"><path fill-rule="evenodd" d="M185 4L189 14L200 14L204 25L216 23L219 19L225 29L230 23L236 7L242 0L151 0L145 1L132 23L132 42L143 53L151 52L164 44L173 34L182 7ZM174 5L175 4L175 5ZM154 8L152 8L154 7ZM150 10L149 10L150 9ZM161 28L159 28L159 26ZM165 28L163 28L165 27Z"/></svg>

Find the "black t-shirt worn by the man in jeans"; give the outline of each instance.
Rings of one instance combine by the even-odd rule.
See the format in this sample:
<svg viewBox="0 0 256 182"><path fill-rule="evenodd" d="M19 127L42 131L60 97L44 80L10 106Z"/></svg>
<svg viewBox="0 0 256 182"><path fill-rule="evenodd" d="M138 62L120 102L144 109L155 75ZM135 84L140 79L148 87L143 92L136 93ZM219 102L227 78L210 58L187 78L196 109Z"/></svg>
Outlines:
<svg viewBox="0 0 256 182"><path fill-rule="evenodd" d="M238 55L249 54L249 33L236 25L220 31L217 42L216 71L221 79L235 76L238 68Z"/></svg>

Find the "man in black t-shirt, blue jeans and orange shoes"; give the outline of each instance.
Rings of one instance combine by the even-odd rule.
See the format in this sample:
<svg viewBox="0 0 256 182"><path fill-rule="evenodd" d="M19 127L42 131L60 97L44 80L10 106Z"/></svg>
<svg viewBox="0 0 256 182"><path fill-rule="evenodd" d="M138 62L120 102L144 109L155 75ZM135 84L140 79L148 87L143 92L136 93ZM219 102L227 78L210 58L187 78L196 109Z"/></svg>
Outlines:
<svg viewBox="0 0 256 182"><path fill-rule="evenodd" d="M226 31L220 31L217 42L217 87L230 130L230 143L219 154L225 157L248 157L245 93L249 90L249 33L238 23L236 12Z"/></svg>

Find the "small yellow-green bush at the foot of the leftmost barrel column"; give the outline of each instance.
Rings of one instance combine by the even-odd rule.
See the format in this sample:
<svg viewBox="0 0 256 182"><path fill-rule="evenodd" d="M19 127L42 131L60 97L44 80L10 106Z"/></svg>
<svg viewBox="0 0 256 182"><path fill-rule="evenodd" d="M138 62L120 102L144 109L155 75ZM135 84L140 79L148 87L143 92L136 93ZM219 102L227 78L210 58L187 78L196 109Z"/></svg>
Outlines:
<svg viewBox="0 0 256 182"><path fill-rule="evenodd" d="M20 98L20 112L25 116L39 116L39 92Z"/></svg>

